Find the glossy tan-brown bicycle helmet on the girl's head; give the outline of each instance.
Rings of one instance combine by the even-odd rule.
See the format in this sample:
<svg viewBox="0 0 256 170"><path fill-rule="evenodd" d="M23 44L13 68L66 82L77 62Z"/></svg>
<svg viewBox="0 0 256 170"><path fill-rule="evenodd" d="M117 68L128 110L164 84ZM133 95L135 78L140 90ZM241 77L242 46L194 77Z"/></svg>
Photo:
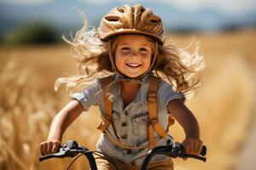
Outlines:
<svg viewBox="0 0 256 170"><path fill-rule="evenodd" d="M150 8L144 8L140 4L113 8L102 18L98 33L102 41L108 41L111 37L121 34L148 36L161 45L166 39L160 17L153 14Z"/></svg>

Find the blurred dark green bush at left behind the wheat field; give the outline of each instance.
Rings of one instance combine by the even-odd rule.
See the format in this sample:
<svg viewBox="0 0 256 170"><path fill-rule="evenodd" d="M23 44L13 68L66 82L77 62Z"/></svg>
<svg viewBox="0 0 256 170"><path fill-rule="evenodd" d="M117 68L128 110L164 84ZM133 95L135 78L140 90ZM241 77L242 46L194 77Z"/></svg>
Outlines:
<svg viewBox="0 0 256 170"><path fill-rule="evenodd" d="M3 42L9 45L47 44L58 42L61 36L44 22L33 22L9 32Z"/></svg>

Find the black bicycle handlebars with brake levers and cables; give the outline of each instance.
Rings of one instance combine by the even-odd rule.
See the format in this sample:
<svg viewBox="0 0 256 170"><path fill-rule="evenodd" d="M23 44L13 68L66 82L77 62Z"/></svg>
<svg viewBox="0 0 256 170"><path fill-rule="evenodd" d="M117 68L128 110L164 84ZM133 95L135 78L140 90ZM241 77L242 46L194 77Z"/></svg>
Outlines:
<svg viewBox="0 0 256 170"><path fill-rule="evenodd" d="M50 158L74 157L74 156L77 156L79 153L81 153L81 155L79 156L84 155L88 159L91 170L97 170L96 161L92 153L102 154L102 152L88 150L86 147L79 145L74 140L67 141L67 144L61 144L59 151L55 154L49 154L46 156L39 157L39 161L44 161ZM147 156L143 160L141 170L146 170L151 158L158 154L165 154L166 156L170 156L170 157L181 157L181 158L190 157L190 158L195 158L201 161L207 161L207 158L205 157L207 155L207 147L205 145L202 147L202 150L200 153L201 156L195 156L195 155L186 154L182 144L178 142L172 142L171 140L167 140L166 145L156 146L154 147L154 149L148 151ZM69 167L67 167L67 170L72 166L73 162L79 158L79 156L77 156L70 163ZM119 168L116 167L116 169L119 169Z"/></svg>

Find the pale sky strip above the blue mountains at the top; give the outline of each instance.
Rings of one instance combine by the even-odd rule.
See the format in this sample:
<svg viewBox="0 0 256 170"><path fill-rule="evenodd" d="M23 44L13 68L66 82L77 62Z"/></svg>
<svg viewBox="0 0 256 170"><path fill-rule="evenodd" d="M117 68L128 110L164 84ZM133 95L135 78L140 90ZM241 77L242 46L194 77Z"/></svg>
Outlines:
<svg viewBox="0 0 256 170"><path fill-rule="evenodd" d="M0 0L2 3L9 3L14 5L32 6L42 5L44 3L53 3L61 0ZM155 2L155 0L79 0L84 3L90 3L92 5L104 5L113 2L119 3L148 3ZM160 0L158 3L170 4L177 8L183 8L185 10L198 10L200 8L214 8L219 11L229 14L242 14L247 11L256 10L255 0Z"/></svg>

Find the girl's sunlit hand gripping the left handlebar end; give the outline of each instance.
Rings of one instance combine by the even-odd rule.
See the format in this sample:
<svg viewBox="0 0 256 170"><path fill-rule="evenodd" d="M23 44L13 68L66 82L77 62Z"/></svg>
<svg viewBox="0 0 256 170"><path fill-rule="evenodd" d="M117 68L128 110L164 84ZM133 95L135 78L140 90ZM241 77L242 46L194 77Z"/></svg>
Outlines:
<svg viewBox="0 0 256 170"><path fill-rule="evenodd" d="M48 140L48 141L42 142L40 144L40 151L41 151L42 156L54 154L58 151L60 146L61 146L61 141Z"/></svg>

